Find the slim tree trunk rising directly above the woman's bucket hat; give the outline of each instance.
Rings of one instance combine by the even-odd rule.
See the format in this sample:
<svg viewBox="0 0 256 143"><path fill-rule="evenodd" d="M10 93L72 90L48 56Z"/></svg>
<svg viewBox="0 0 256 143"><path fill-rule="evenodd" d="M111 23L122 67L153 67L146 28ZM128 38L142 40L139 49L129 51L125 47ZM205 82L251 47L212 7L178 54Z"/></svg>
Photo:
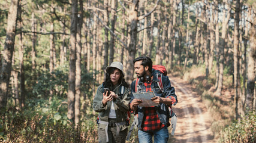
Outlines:
<svg viewBox="0 0 256 143"><path fill-rule="evenodd" d="M111 30L112 32L115 32L115 22L116 22L116 7L117 7L117 0L111 0L111 17L110 17L110 21L111 21ZM109 63L112 63L114 60L114 46L115 46L115 36L111 35L110 36L110 45L109 45Z"/></svg>

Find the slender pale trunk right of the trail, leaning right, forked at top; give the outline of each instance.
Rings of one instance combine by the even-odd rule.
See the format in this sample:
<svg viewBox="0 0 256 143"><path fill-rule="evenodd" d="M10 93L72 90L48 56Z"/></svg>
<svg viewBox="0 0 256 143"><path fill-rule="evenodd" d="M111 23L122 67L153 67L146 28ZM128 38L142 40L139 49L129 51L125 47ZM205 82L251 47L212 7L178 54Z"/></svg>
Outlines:
<svg viewBox="0 0 256 143"><path fill-rule="evenodd" d="M222 91L222 83L223 83L223 73L224 73L224 51L225 51L225 39L227 38L227 24L228 21L230 19L230 13L228 12L227 17L226 17L226 10L225 10L225 6L226 5L227 0L224 1L223 5L224 5L224 10L223 10L223 15L222 15L222 30L221 30L221 44L219 47L219 80L218 80L218 88L216 90L215 95L221 95L221 91ZM230 10L230 8L229 8Z"/></svg>

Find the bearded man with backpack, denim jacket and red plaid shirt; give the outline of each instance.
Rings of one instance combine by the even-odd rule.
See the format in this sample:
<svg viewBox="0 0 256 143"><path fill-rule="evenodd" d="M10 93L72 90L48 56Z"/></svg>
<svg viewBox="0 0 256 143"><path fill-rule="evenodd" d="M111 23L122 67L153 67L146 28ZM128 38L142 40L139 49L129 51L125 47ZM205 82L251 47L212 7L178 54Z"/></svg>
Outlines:
<svg viewBox="0 0 256 143"><path fill-rule="evenodd" d="M171 86L167 76L162 76L162 85L164 91L158 86L158 70L152 69L152 60L149 57L138 57L134 59L136 80L131 83L131 103L130 108L138 114L138 141L140 143L167 142L169 135L167 127L170 126L169 118L171 117L169 107L177 103L177 96L174 88ZM137 88L135 88L137 86ZM137 89L137 91L135 91ZM156 97L151 98L158 106L140 107L143 101L134 98L133 92L155 92Z"/></svg>

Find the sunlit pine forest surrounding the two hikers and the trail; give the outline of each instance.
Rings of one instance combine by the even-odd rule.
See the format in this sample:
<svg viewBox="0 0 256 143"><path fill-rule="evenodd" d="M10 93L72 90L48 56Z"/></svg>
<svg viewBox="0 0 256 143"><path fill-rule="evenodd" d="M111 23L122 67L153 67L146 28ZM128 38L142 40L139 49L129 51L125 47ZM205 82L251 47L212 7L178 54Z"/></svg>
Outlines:
<svg viewBox="0 0 256 143"><path fill-rule="evenodd" d="M104 69L131 83L141 55L196 86L216 141L255 142L255 0L0 1L0 142L97 142Z"/></svg>

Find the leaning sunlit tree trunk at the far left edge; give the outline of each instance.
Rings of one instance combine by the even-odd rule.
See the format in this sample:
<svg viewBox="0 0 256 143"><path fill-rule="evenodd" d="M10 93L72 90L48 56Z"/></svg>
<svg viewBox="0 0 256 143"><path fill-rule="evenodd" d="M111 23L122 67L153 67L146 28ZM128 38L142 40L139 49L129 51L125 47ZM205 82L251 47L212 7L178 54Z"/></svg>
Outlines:
<svg viewBox="0 0 256 143"><path fill-rule="evenodd" d="M5 113L7 104L8 86L11 74L11 60L13 58L14 43L17 26L17 10L19 7L19 0L11 1L8 11L6 39L4 45L4 54L2 58L2 67L0 73L0 112Z"/></svg>

